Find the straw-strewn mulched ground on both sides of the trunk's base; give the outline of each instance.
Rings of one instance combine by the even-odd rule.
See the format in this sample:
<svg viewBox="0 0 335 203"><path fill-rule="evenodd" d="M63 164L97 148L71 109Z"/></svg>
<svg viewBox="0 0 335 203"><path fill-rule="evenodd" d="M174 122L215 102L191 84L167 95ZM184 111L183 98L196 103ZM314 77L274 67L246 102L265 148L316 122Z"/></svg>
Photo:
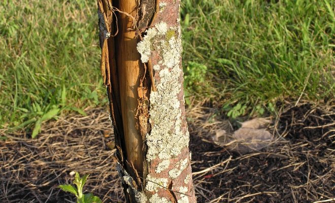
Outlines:
<svg viewBox="0 0 335 203"><path fill-rule="evenodd" d="M287 104L270 131L276 141L240 154L211 142L230 123L211 108L187 110L198 202L335 202L335 106ZM56 188L71 171L91 174L86 189L104 202L124 202L103 109L44 126L38 139L6 134L0 141L0 202L75 202ZM0 130L0 136L5 130Z"/></svg>

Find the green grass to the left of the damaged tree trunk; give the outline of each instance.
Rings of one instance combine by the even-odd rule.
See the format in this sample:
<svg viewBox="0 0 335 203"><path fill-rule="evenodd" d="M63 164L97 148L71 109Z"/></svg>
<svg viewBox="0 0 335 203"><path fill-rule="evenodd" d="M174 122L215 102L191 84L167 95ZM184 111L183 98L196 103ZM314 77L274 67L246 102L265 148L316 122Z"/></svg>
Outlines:
<svg viewBox="0 0 335 203"><path fill-rule="evenodd" d="M95 2L67 2L0 3L0 126L32 127L107 101Z"/></svg>

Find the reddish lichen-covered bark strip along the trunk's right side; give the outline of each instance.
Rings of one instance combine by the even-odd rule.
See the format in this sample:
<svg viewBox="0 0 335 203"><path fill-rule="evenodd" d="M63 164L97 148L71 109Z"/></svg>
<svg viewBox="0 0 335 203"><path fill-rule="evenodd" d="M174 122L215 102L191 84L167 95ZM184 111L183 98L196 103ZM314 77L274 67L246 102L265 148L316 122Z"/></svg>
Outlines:
<svg viewBox="0 0 335 203"><path fill-rule="evenodd" d="M141 62L147 63L152 74L150 84L155 87L148 88L150 130L144 139L148 163L144 193L151 203L194 203L183 100L181 28L174 13L179 1L162 0L158 6L161 13L169 15L155 13L156 18L146 31L141 31L137 43Z"/></svg>

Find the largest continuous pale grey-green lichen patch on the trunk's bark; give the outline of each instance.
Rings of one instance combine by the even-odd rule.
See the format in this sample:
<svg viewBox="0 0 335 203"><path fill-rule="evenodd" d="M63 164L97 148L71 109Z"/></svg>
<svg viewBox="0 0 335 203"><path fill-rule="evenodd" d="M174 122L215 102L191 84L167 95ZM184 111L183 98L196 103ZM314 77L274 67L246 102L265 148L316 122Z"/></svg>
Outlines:
<svg viewBox="0 0 335 203"><path fill-rule="evenodd" d="M159 82L155 82L157 91L150 93L149 122L152 129L146 136L148 161L157 158L157 155L161 160L168 160L178 156L183 148L188 147L188 131L184 132L181 128L180 105L183 101L179 100L178 95L182 89L179 82L182 75L182 44L176 30L179 30L179 27L168 29L166 23L158 23L148 29L147 35L137 46L142 62L149 60L153 43L155 49L160 50L162 57L162 60L153 66L159 73Z"/></svg>

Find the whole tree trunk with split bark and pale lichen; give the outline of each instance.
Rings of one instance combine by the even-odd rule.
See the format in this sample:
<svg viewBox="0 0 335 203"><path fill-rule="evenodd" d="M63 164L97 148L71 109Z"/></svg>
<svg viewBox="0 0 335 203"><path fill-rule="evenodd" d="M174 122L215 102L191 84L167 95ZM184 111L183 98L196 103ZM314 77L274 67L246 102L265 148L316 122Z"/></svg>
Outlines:
<svg viewBox="0 0 335 203"><path fill-rule="evenodd" d="M127 202L196 202L179 0L98 0L101 71Z"/></svg>

